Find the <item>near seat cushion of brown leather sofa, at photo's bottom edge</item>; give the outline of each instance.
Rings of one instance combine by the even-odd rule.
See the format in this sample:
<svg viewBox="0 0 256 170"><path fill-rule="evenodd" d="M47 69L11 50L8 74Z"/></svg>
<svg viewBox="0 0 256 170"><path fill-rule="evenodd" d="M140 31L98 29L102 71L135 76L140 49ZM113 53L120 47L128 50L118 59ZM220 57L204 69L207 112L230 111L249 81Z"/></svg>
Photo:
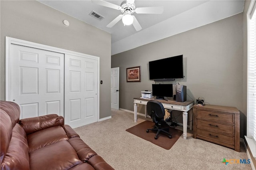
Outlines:
<svg viewBox="0 0 256 170"><path fill-rule="evenodd" d="M30 152L31 170L67 170L83 163L67 140Z"/></svg>

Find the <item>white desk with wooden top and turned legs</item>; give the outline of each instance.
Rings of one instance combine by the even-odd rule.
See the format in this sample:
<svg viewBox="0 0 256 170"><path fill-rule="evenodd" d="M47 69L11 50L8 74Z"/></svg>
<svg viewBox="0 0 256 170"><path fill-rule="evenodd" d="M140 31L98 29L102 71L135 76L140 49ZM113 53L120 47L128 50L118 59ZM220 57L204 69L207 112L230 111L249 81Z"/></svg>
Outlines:
<svg viewBox="0 0 256 170"><path fill-rule="evenodd" d="M134 98L134 122L137 122L137 105L141 104L141 105L147 105L148 101L150 100L154 100L154 98L150 98L150 99L142 99L140 97L136 97ZM159 102L162 103L162 105L164 106L165 109L173 109L176 111L183 111L183 138L186 139L187 138L187 128L188 128L188 111L189 111L189 117L190 117L190 123L189 123L189 127L190 130L192 130L192 116L193 116L193 105L194 105L194 101L185 101L185 102L176 102L174 100L157 100ZM145 117L147 117L147 111L146 111L146 107L145 107Z"/></svg>

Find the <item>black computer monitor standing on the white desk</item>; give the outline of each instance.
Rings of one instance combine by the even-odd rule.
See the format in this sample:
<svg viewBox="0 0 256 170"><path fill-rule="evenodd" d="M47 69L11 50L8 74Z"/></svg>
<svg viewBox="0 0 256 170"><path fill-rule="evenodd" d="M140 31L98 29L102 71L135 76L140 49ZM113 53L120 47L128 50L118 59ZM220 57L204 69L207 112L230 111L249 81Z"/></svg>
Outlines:
<svg viewBox="0 0 256 170"><path fill-rule="evenodd" d="M172 97L172 84L152 84L152 95L156 96L156 99Z"/></svg>

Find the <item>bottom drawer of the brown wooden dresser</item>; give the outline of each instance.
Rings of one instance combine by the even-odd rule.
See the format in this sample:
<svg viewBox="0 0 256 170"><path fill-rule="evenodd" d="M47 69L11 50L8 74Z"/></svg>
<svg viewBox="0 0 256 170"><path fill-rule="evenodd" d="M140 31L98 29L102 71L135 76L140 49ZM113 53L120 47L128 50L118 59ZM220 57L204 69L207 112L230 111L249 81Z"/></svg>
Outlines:
<svg viewBox="0 0 256 170"><path fill-rule="evenodd" d="M216 132L210 132L208 130L203 130L198 128L197 129L197 137L200 138L200 136L204 138L209 139L210 142L214 142L212 140L216 140L221 143L226 143L229 145L234 146L234 136L227 136L224 134L216 133Z"/></svg>

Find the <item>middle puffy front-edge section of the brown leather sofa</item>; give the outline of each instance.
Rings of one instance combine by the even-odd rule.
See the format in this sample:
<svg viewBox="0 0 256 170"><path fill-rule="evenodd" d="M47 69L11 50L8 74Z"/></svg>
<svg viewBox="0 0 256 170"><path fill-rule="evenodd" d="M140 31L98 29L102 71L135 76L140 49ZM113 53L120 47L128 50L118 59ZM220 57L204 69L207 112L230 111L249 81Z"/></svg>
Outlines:
<svg viewBox="0 0 256 170"><path fill-rule="evenodd" d="M80 160L87 161L92 156L97 155L84 141L78 137L68 139L71 146L76 150Z"/></svg>

